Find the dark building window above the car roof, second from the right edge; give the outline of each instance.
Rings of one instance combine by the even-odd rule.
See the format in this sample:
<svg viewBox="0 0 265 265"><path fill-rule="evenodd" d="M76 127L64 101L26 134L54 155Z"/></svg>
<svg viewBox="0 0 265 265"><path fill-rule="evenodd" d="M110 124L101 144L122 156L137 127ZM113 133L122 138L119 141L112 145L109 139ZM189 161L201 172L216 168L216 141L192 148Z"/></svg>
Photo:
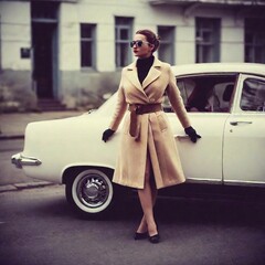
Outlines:
<svg viewBox="0 0 265 265"><path fill-rule="evenodd" d="M220 61L220 19L195 20L197 63Z"/></svg>

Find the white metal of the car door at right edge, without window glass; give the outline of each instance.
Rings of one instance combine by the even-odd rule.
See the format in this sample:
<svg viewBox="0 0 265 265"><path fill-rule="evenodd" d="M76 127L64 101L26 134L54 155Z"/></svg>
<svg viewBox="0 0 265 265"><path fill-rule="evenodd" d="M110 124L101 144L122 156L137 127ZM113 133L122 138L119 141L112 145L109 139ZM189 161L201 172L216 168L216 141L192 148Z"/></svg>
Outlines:
<svg viewBox="0 0 265 265"><path fill-rule="evenodd" d="M230 116L225 125L223 167L225 182L265 181L265 109L246 113L240 108L243 82L248 77L253 75L241 75L239 80L233 108L235 114ZM234 126L234 123L237 125Z"/></svg>

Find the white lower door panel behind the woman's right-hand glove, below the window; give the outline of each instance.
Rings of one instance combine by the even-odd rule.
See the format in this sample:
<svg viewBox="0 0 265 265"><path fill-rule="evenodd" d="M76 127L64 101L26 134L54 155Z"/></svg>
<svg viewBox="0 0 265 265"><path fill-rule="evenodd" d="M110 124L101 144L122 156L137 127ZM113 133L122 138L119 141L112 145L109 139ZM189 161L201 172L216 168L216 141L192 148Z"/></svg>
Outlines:
<svg viewBox="0 0 265 265"><path fill-rule="evenodd" d="M189 138L176 137L186 178L189 180L219 181L222 176L223 127L229 114L189 114L192 126L202 136L194 145ZM177 117L170 115L176 135L184 135L183 128L176 128ZM178 134L178 131L180 131ZM211 169L211 170L209 170Z"/></svg>

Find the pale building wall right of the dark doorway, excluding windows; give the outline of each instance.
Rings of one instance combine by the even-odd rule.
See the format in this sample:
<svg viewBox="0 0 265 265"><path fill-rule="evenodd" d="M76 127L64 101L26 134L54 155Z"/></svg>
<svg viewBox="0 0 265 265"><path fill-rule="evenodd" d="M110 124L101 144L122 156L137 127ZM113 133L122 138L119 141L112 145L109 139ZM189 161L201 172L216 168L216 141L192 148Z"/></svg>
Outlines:
<svg viewBox="0 0 265 265"><path fill-rule="evenodd" d="M60 10L60 97L73 97L95 91L114 92L118 86L120 70L115 66L115 17L134 18L134 32L158 25L176 26L176 64L195 62L195 17L222 18L221 62L244 61L243 20L222 9L200 8L188 15L176 6L153 7L141 0L83 0L78 4L62 3ZM83 71L80 62L80 23L95 23L96 70ZM71 55L70 55L71 54ZM132 59L134 60L134 59ZM66 96L67 95L67 96ZM71 99L72 98L72 99Z"/></svg>

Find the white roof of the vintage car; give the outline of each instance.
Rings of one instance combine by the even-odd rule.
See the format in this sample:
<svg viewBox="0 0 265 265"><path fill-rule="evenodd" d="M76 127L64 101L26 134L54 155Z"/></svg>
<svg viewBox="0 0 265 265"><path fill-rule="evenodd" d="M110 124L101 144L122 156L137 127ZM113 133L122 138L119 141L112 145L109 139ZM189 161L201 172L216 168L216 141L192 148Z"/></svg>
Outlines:
<svg viewBox="0 0 265 265"><path fill-rule="evenodd" d="M192 74L244 73L265 76L265 64L257 63L195 63L171 66L176 76Z"/></svg>

